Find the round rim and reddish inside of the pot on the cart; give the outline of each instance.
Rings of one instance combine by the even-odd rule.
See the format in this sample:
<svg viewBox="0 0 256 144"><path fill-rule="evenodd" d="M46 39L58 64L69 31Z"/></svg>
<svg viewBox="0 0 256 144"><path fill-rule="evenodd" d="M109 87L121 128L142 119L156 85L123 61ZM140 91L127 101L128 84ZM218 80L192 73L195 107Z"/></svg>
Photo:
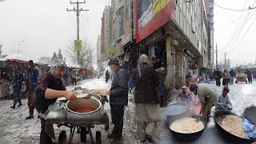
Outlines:
<svg viewBox="0 0 256 144"><path fill-rule="evenodd" d="M88 112L88 113L78 113L73 111L75 108L82 107L82 106L90 106L93 107L95 110ZM91 114L97 112L102 107L102 102L100 102L97 98L77 98L74 100L70 100L66 102L66 109L75 114Z"/></svg>

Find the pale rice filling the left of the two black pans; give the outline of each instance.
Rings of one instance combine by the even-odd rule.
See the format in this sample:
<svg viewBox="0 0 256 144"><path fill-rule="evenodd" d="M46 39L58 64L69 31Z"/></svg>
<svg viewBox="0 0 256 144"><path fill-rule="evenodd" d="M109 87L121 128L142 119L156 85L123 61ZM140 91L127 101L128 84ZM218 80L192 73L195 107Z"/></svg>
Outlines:
<svg viewBox="0 0 256 144"><path fill-rule="evenodd" d="M170 125L170 130L182 134L191 134L205 128L202 121L196 122L196 118L180 118Z"/></svg>

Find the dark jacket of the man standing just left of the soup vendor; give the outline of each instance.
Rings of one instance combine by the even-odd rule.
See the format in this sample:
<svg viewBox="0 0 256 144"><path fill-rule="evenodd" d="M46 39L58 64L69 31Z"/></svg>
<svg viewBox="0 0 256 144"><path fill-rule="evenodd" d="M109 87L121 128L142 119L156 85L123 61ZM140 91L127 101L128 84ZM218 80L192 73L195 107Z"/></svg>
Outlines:
<svg viewBox="0 0 256 144"><path fill-rule="evenodd" d="M35 88L38 86L38 78L39 78L39 73L38 70L31 67L28 72L27 72L27 79L29 82L27 82L28 85L28 89L29 90L35 90Z"/></svg>

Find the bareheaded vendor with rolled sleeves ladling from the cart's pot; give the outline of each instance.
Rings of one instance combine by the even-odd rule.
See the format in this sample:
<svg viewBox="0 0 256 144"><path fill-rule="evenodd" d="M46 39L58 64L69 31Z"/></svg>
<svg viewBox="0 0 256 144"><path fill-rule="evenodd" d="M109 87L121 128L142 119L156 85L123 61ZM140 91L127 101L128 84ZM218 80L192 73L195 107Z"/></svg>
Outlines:
<svg viewBox="0 0 256 144"><path fill-rule="evenodd" d="M54 62L50 67L50 72L46 73L39 82L36 88L36 101L35 107L41 118L41 134L40 144L50 144L54 138L53 125L46 126L46 119L43 114L46 114L48 106L54 104L57 98L65 97L67 100L75 99L76 94L74 91L67 91L62 83L66 64L65 62ZM46 130L50 130L51 134L46 134Z"/></svg>

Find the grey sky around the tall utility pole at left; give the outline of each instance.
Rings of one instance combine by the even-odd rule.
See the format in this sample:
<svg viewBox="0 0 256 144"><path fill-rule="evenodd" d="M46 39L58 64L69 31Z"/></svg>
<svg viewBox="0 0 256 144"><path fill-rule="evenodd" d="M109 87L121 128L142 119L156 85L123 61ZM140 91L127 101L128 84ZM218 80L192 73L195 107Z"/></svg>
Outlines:
<svg viewBox="0 0 256 144"><path fill-rule="evenodd" d="M90 11L81 13L80 39L89 38L96 52L105 0L87 0L86 6L81 6ZM0 1L3 54L18 53L14 41L22 40L25 41L20 45L20 54L36 62L40 56L51 57L59 48L64 50L76 38L76 15L66 11L66 8L73 7L67 0Z"/></svg>

